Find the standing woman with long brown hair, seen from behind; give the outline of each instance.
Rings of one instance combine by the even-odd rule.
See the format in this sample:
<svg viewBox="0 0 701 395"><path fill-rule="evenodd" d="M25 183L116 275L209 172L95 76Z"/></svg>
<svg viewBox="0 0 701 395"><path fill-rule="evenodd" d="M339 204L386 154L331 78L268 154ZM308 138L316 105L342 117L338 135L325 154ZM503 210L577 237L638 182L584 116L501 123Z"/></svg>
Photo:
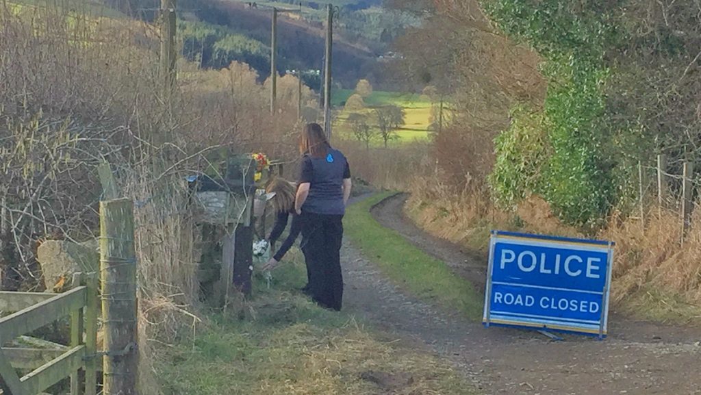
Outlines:
<svg viewBox="0 0 701 395"><path fill-rule="evenodd" d="M322 307L341 309L343 215L351 196L351 170L346 156L329 145L324 130L308 123L299 138L303 155L294 202L304 215L304 256L311 272L308 293Z"/></svg>

